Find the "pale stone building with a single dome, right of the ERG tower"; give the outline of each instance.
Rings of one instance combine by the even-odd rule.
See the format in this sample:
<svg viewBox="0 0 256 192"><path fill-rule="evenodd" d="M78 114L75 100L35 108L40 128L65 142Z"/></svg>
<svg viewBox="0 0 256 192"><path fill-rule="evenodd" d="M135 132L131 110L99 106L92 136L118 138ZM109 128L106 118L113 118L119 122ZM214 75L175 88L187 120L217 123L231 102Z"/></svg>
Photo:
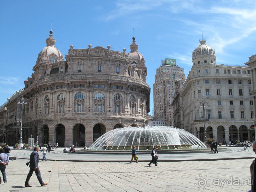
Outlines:
<svg viewBox="0 0 256 192"><path fill-rule="evenodd" d="M200 40L192 53L193 66L183 90L177 94L174 126L204 141L255 140L251 73L247 66L216 65L215 51ZM199 102L205 103L205 108ZM205 117L205 118L204 118Z"/></svg>

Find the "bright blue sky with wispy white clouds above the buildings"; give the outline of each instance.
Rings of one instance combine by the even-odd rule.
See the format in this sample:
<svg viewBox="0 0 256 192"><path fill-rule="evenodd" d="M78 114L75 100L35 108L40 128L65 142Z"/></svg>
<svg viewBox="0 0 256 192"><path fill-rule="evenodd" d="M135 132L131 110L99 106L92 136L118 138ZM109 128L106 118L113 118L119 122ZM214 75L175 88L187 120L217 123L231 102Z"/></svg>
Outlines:
<svg viewBox="0 0 256 192"><path fill-rule="evenodd" d="M244 64L256 54L256 1L2 1L0 6L0 105L33 73L38 53L52 30L63 55L74 48L111 46L130 51L133 28L148 68L153 109L156 68L177 60L186 76L192 52L203 37L217 64ZM154 61L152 61L154 59Z"/></svg>

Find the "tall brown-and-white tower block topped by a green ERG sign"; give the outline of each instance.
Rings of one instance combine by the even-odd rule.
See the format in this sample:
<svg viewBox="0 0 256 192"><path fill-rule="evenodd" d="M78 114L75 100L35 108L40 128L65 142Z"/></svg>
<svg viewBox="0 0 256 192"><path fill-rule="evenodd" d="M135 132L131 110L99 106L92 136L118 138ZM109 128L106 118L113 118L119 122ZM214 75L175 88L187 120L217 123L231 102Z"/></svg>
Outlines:
<svg viewBox="0 0 256 192"><path fill-rule="evenodd" d="M155 121L164 121L166 125L173 126L172 101L183 88L184 81L184 69L176 65L176 60L162 60L162 65L156 69L153 84Z"/></svg>

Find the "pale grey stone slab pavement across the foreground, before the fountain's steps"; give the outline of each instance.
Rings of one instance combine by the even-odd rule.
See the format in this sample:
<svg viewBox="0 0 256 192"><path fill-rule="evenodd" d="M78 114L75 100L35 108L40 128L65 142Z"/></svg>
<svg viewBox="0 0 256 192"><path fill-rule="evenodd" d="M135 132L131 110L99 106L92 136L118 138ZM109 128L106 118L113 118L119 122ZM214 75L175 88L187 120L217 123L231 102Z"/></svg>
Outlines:
<svg viewBox="0 0 256 192"><path fill-rule="evenodd" d="M8 182L0 185L1 192L247 191L252 163L252 159L159 162L158 167L149 167L144 162L40 161L42 178L49 185L41 187L34 173L29 182L33 187L25 188L29 171L26 161L17 159L9 163ZM47 172L50 170L51 173Z"/></svg>

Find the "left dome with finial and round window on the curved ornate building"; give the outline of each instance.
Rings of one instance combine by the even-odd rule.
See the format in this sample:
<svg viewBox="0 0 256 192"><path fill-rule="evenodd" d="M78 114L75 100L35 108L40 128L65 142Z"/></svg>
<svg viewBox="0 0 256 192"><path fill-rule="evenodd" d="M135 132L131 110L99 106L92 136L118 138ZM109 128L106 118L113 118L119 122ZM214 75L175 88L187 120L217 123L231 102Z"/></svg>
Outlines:
<svg viewBox="0 0 256 192"><path fill-rule="evenodd" d="M59 49L57 49L54 44L56 40L52 37L52 30L50 31L49 37L46 39L46 46L44 49L38 54L38 59L41 60L43 58L50 59L54 57L56 61L63 60L63 56Z"/></svg>

